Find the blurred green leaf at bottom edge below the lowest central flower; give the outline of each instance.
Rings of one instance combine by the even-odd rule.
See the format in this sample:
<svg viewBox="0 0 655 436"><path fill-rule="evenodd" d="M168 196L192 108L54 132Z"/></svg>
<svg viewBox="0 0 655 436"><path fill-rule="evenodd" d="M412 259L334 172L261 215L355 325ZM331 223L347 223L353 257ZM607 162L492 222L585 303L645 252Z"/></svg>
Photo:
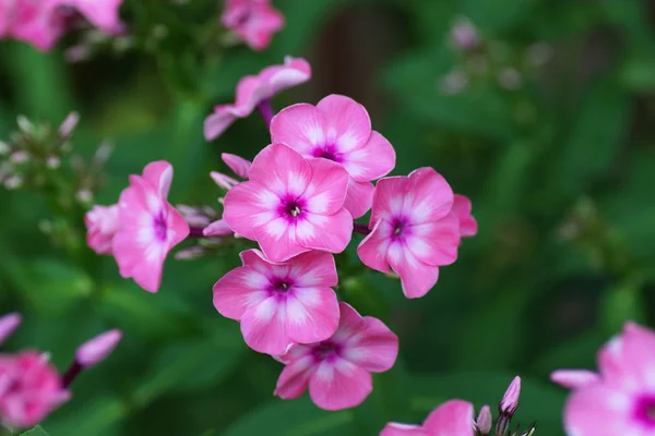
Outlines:
<svg viewBox="0 0 655 436"><path fill-rule="evenodd" d="M326 412L309 398L274 400L243 416L223 436L354 436L353 412Z"/></svg>

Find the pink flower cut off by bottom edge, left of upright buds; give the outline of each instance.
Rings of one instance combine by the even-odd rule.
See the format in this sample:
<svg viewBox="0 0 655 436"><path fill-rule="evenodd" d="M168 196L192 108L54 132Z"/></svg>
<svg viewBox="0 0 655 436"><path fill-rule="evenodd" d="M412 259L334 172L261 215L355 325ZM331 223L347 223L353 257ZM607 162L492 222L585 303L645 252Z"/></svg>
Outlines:
<svg viewBox="0 0 655 436"><path fill-rule="evenodd" d="M474 436L473 404L451 400L439 405L422 425L389 423L380 436Z"/></svg>

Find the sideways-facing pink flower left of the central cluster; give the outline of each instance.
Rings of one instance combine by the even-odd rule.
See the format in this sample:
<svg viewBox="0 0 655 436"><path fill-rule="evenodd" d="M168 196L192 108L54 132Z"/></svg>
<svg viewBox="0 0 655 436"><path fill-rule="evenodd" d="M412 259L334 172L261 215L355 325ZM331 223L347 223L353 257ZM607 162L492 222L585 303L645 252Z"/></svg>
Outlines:
<svg viewBox="0 0 655 436"><path fill-rule="evenodd" d="M130 175L120 194L120 230L112 240L114 257L124 278L148 292L157 292L168 252L187 235L189 225L168 203L172 167L166 161L148 164L143 175Z"/></svg>

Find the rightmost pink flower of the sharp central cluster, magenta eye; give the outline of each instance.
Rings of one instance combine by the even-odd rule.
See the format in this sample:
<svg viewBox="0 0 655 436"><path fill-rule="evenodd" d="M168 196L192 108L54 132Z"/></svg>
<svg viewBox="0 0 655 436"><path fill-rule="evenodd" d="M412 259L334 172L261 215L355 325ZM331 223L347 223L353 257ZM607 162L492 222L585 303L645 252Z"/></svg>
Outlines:
<svg viewBox="0 0 655 436"><path fill-rule="evenodd" d="M457 258L460 222L451 214L453 192L431 168L382 179L376 186L369 228L357 253L368 267L401 277L405 296L425 295L439 267Z"/></svg>

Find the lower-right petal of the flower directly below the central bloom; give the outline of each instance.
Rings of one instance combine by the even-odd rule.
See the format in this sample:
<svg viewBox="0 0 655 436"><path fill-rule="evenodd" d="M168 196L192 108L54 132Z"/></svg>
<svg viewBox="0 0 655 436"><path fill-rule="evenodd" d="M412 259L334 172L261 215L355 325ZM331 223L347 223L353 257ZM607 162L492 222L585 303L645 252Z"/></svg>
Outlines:
<svg viewBox="0 0 655 436"><path fill-rule="evenodd" d="M336 293L331 288L293 288L286 301L286 331L299 343L329 339L338 326Z"/></svg>

